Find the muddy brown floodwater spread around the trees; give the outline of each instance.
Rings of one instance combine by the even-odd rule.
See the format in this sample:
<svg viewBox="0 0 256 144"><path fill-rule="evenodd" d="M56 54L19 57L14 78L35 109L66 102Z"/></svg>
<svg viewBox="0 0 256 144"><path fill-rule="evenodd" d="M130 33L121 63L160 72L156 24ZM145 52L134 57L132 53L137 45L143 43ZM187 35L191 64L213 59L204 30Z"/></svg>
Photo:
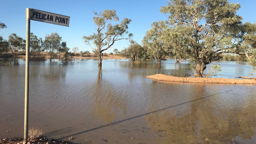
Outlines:
<svg viewBox="0 0 256 144"><path fill-rule="evenodd" d="M73 143L256 143L256 86L159 82L148 75L187 76L173 59L76 59L31 62L29 128ZM221 63L215 77L248 76L246 62ZM205 73L209 67L205 70ZM23 138L25 60L0 66L0 138Z"/></svg>

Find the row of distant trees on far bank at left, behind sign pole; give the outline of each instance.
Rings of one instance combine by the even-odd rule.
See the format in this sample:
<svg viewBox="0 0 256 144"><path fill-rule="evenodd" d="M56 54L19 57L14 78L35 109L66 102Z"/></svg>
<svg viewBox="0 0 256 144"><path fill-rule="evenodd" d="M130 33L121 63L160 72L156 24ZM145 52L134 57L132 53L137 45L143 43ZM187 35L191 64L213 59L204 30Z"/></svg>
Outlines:
<svg viewBox="0 0 256 144"><path fill-rule="evenodd" d="M0 23L0 28L4 29L7 26L4 23ZM17 34L12 33L9 35L8 40L3 39L0 36L0 55L2 53L11 52L15 59L19 51L26 50L26 40ZM67 43L62 41L62 37L57 33L46 35L45 39L37 37L33 33L30 33L30 55L29 59L32 60L45 60L46 56L50 61L53 59L60 59L64 63L69 61L72 56L78 55L78 47L74 47L72 52L67 48ZM62 54L62 55L60 55Z"/></svg>

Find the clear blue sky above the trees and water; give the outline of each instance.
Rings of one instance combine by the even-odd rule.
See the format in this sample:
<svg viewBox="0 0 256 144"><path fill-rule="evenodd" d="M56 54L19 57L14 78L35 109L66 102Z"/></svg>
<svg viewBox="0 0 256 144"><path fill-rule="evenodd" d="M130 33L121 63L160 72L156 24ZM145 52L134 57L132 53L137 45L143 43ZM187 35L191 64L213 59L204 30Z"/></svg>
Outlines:
<svg viewBox="0 0 256 144"><path fill-rule="evenodd" d="M159 19L166 20L165 14L159 12L161 6L166 6L168 0L0 0L0 22L7 25L7 29L1 29L0 35L4 39L12 33L26 39L26 8L33 8L46 12L70 16L69 27L31 20L30 32L37 37L45 38L46 34L57 32L63 41L67 42L70 50L78 47L79 51L91 48L83 42L83 36L89 36L96 32L92 17L93 12L101 12L106 9L116 10L120 20L132 19L128 31L133 34L133 39L139 44L145 36L151 23ZM229 0L229 2L241 4L237 14L242 15L244 22L256 22L256 0ZM127 40L119 40L106 50L113 52L117 48L127 48Z"/></svg>

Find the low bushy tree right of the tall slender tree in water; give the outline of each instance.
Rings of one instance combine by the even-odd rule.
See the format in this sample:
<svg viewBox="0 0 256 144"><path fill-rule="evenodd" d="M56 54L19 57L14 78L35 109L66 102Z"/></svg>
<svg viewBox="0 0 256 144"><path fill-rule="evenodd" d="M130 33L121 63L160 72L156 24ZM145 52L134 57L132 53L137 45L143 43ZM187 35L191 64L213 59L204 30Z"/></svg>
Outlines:
<svg viewBox="0 0 256 144"><path fill-rule="evenodd" d="M132 61L137 61L143 58L143 47L132 39L129 40L129 42L130 45L128 46L128 48L121 50L119 55L125 58L130 58Z"/></svg>

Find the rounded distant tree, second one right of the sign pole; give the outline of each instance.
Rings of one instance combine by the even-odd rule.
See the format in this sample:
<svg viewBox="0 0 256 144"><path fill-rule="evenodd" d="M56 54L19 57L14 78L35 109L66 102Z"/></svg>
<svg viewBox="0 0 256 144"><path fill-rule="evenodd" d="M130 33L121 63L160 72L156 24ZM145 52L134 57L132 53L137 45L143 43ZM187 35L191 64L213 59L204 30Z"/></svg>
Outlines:
<svg viewBox="0 0 256 144"><path fill-rule="evenodd" d="M48 52L50 61L52 61L53 58L57 58L57 54L64 52L67 49L67 43L62 42L62 37L55 32L45 36L43 48Z"/></svg>

